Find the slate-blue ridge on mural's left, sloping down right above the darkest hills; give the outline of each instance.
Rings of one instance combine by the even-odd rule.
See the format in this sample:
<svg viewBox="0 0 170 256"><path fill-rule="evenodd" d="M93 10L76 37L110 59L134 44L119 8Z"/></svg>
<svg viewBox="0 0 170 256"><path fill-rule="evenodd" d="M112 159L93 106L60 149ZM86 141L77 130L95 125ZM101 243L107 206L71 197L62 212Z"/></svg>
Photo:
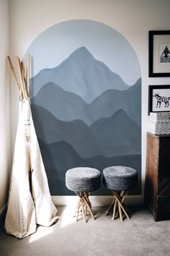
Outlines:
<svg viewBox="0 0 170 256"><path fill-rule="evenodd" d="M44 108L33 105L32 116L37 136L47 144L64 140L83 157L102 155L97 139L83 121L60 121Z"/></svg>

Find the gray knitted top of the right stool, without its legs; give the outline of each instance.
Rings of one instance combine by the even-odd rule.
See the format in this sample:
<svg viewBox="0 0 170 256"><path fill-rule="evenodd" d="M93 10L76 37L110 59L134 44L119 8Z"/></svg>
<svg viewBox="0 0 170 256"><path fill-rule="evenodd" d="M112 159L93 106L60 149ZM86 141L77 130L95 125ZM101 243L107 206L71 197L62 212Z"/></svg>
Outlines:
<svg viewBox="0 0 170 256"><path fill-rule="evenodd" d="M104 168L103 184L113 190L133 189L138 184L138 171L127 166Z"/></svg>

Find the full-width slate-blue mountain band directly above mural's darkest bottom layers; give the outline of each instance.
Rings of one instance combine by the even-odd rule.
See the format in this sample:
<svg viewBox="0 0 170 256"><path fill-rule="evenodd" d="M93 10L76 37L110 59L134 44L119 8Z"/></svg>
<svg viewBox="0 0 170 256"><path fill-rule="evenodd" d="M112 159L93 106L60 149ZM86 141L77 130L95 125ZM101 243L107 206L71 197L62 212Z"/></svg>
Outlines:
<svg viewBox="0 0 170 256"><path fill-rule="evenodd" d="M47 144L65 141L83 158L140 153L140 127L125 111L88 127L81 120L58 120L40 106L32 104L31 108L37 137Z"/></svg>

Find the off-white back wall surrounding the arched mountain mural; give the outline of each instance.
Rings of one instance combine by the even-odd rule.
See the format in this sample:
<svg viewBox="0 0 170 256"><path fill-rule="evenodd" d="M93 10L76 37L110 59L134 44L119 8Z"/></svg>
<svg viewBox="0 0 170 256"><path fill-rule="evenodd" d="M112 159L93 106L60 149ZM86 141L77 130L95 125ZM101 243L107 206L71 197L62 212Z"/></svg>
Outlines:
<svg viewBox="0 0 170 256"><path fill-rule="evenodd" d="M146 165L148 85L169 77L148 78L148 30L169 30L169 0L9 0L12 57L21 58L33 40L58 22L86 19L115 28L133 46L142 72L142 175ZM17 125L17 89L12 85L12 145ZM13 148L13 147L12 147Z"/></svg>

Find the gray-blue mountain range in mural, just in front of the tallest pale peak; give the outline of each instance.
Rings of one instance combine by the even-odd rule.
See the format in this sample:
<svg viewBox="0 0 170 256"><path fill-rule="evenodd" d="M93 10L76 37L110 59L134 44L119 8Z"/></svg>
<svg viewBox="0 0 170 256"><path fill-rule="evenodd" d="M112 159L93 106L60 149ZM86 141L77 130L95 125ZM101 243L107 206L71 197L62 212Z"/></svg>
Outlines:
<svg viewBox="0 0 170 256"><path fill-rule="evenodd" d="M62 121L79 119L90 126L98 119L112 116L122 108L133 121L141 125L141 79L128 90L106 90L87 104L79 95L67 92L53 82L42 86L32 103L50 111Z"/></svg>

